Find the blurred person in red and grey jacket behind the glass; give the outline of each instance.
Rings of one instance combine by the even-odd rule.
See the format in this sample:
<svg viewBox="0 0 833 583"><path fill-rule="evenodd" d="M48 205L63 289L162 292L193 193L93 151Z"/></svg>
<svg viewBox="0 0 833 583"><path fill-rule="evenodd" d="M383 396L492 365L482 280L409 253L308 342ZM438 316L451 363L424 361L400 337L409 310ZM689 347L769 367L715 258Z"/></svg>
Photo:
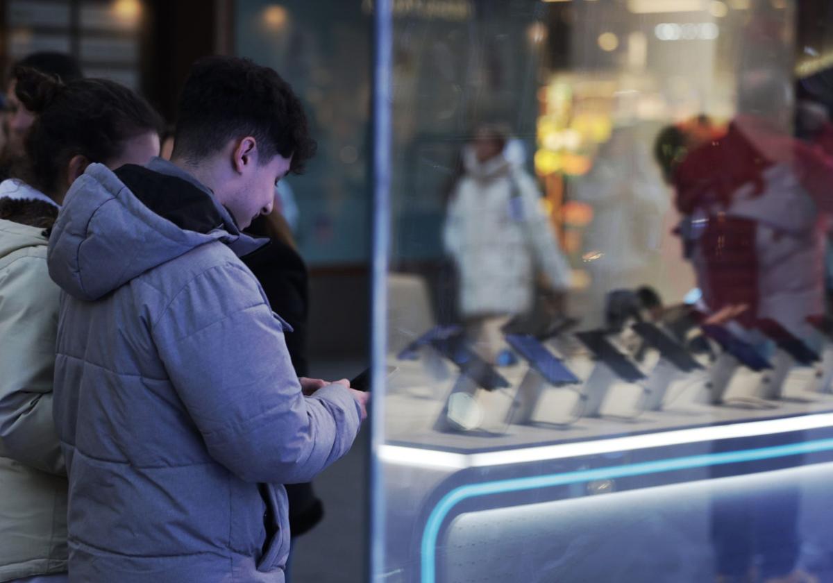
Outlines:
<svg viewBox="0 0 833 583"><path fill-rule="evenodd" d="M833 159L792 137L781 82L748 72L726 135L701 144L673 174L681 237L710 311L747 306L747 327L771 318L809 336L823 313L821 265L833 212Z"/></svg>

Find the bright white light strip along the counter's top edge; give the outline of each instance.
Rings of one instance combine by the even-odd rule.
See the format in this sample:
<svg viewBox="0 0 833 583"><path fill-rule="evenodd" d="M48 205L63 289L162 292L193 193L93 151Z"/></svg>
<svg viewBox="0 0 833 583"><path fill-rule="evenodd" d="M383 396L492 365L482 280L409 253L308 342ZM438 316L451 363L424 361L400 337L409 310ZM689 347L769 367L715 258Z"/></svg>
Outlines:
<svg viewBox="0 0 833 583"><path fill-rule="evenodd" d="M639 436L614 437L555 446L522 447L488 453L450 453L421 447L380 446L379 459L402 466L426 466L462 470L467 467L506 466L530 461L558 460L568 457L597 456L614 451L633 451L651 447L677 446L684 443L767 436L791 431L806 431L833 426L833 413L787 417L768 421L749 421L732 425L696 427L660 431Z"/></svg>

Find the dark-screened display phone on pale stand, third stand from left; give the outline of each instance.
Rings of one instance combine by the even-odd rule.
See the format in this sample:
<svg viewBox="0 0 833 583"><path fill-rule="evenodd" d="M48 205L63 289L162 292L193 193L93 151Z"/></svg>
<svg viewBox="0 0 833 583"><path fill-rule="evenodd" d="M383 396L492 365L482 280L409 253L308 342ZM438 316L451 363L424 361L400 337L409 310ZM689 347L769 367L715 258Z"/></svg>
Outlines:
<svg viewBox="0 0 833 583"><path fill-rule="evenodd" d="M645 375L628 359L616 350L606 339L601 330L577 332L582 344L587 346L596 358L596 364L584 384L584 411L582 416L601 416L601 406L611 386L617 382L637 383L645 380Z"/></svg>

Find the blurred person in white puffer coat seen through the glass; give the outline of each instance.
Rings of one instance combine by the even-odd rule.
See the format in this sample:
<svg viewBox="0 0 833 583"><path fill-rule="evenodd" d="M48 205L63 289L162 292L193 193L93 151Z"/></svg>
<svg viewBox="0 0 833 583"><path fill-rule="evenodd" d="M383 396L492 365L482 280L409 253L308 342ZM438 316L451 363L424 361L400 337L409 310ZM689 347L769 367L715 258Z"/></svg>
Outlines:
<svg viewBox="0 0 833 583"><path fill-rule="evenodd" d="M491 363L501 350L501 326L531 311L536 274L551 296L563 295L571 276L535 180L509 144L499 126L476 130L464 149L442 232L459 276L467 334Z"/></svg>

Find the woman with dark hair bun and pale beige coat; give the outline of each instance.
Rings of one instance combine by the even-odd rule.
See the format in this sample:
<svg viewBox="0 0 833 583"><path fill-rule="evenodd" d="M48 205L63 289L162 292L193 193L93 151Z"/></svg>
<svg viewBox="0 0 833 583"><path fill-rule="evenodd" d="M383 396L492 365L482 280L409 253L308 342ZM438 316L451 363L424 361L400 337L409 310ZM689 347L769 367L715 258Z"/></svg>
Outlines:
<svg viewBox="0 0 833 583"><path fill-rule="evenodd" d="M59 583L67 581L66 466L52 421L59 288L44 229L91 162L116 168L156 155L160 120L102 79L63 83L17 67L14 87L33 118L25 163L0 183L0 581Z"/></svg>

